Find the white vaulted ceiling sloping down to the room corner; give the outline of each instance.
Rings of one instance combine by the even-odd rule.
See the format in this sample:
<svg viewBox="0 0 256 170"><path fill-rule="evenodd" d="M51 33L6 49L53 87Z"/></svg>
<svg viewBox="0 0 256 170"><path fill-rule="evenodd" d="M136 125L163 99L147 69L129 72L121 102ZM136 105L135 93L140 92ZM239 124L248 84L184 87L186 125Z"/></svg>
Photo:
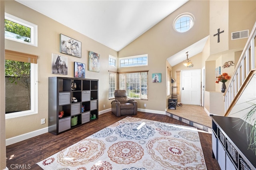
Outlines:
<svg viewBox="0 0 256 170"><path fill-rule="evenodd" d="M188 2L188 0L16 1L115 51L120 51Z"/></svg>

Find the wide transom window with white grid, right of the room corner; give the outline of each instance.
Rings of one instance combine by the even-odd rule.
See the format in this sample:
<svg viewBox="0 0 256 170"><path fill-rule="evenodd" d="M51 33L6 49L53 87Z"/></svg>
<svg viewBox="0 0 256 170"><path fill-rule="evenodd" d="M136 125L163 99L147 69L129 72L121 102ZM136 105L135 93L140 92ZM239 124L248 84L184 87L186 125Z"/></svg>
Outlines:
<svg viewBox="0 0 256 170"><path fill-rule="evenodd" d="M137 55L133 57L124 57L119 60L120 67L134 67L148 65L148 55Z"/></svg>

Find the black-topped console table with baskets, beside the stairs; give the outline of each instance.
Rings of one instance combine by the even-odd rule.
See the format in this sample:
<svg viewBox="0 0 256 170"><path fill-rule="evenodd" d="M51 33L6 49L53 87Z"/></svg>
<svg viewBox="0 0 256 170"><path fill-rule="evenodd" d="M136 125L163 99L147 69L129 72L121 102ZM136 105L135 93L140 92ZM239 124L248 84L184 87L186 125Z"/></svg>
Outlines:
<svg viewBox="0 0 256 170"><path fill-rule="evenodd" d="M256 170L256 154L248 149L242 119L212 116L212 152L222 170Z"/></svg>

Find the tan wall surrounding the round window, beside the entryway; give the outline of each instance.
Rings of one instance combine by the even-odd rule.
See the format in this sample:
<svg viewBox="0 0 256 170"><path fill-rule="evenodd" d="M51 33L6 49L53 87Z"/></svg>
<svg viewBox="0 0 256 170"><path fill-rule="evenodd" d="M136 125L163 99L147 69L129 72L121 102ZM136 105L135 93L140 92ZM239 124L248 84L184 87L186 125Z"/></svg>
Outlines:
<svg viewBox="0 0 256 170"><path fill-rule="evenodd" d="M196 10L195 10L196 9ZM152 73L162 73L162 83L152 83L148 85L148 101L138 100L138 107L145 109L164 111L166 108L166 59L182 49L198 42L209 35L209 2L208 1L188 1L177 11L167 16L156 26L148 30L142 36L134 40L124 49L118 52L118 57L128 57L133 55L148 54L148 66L133 67L133 70L149 70L149 77ZM185 33L178 33L172 28L174 19L184 13L190 12L196 18L191 30ZM203 21L203 22L201 22ZM205 28L205 29L202 29ZM186 54L184 54L186 59ZM194 58L194 57L193 57ZM193 69L202 68L202 60L195 57L191 60L195 64ZM184 66L183 66L184 67ZM183 68L187 69L187 68ZM127 71L129 68L120 68L118 71ZM176 76L176 70L172 68L172 77ZM174 85L174 84L173 84Z"/></svg>

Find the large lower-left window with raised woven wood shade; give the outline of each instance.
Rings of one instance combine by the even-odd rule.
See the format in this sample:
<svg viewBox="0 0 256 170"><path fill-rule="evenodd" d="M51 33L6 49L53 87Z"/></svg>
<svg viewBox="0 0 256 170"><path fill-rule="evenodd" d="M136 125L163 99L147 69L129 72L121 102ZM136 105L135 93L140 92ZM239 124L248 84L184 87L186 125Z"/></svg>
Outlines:
<svg viewBox="0 0 256 170"><path fill-rule="evenodd" d="M6 119L38 113L37 56L5 50Z"/></svg>

